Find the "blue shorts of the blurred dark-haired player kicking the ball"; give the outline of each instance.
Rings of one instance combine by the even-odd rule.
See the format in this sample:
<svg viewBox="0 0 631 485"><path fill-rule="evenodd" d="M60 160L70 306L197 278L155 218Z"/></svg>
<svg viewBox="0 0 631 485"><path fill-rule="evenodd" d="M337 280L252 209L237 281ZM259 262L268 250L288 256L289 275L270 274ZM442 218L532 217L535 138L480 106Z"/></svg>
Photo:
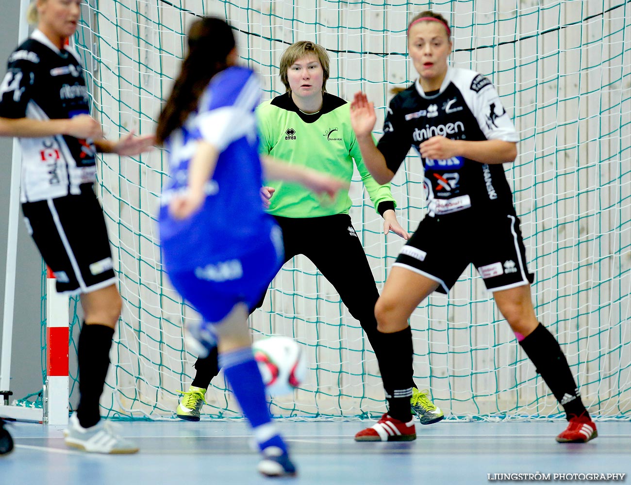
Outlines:
<svg viewBox="0 0 631 485"><path fill-rule="evenodd" d="M177 292L213 324L221 322L237 303L256 307L282 264L283 238L274 224L267 237L259 238L248 252L168 276Z"/></svg>

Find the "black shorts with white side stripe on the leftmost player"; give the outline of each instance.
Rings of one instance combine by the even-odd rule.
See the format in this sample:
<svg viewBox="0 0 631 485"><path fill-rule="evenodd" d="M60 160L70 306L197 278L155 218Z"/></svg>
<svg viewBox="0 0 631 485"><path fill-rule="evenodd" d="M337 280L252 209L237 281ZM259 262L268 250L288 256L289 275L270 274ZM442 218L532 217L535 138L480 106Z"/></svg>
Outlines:
<svg viewBox="0 0 631 485"><path fill-rule="evenodd" d="M22 204L28 231L54 272L59 293L90 293L116 283L103 209L92 184L81 194Z"/></svg>

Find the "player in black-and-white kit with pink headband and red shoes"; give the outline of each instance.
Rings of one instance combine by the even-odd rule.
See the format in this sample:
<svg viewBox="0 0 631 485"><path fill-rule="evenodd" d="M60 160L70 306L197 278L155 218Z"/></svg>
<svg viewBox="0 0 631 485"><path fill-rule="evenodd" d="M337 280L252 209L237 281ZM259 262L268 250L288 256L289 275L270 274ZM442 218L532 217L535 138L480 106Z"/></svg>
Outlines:
<svg viewBox="0 0 631 485"><path fill-rule="evenodd" d="M438 14L425 11L408 25L408 50L420 78L392 99L384 136L375 147L376 116L363 93L351 104L351 124L364 163L380 184L389 182L411 148L425 168L427 217L403 247L375 306L389 362L410 369L408 318L433 291L447 293L473 263L493 292L517 340L564 407L569 426L560 442L586 442L596 426L582 404L557 339L534 313L533 275L502 163L517 156L517 132L488 78L447 64L451 31ZM383 374L383 373L382 373ZM415 431L406 375L384 380L389 411L360 431L358 441L413 440Z"/></svg>

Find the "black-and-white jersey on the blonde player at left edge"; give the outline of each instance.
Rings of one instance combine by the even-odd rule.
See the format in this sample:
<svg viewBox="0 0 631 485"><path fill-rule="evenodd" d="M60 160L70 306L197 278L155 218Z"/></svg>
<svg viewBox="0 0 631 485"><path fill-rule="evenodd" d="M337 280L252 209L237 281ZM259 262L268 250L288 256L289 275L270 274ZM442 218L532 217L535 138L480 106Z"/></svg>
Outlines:
<svg viewBox="0 0 631 485"><path fill-rule="evenodd" d="M0 117L69 119L89 114L88 91L78 54L62 50L35 30L9 56L0 86ZM72 136L21 138L21 201L80 194L95 180L95 146Z"/></svg>

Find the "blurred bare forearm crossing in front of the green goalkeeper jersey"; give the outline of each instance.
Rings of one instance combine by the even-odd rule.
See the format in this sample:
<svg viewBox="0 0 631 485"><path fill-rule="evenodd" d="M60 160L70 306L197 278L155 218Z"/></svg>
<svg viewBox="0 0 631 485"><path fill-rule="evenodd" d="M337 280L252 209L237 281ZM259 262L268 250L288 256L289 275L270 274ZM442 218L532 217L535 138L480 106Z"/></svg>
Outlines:
<svg viewBox="0 0 631 485"><path fill-rule="evenodd" d="M339 190L348 190L348 182L324 175L310 168L295 167L282 161L274 160L271 156L262 156L261 165L266 178L275 180L287 180L288 182L298 182L316 194L326 194L334 197Z"/></svg>

